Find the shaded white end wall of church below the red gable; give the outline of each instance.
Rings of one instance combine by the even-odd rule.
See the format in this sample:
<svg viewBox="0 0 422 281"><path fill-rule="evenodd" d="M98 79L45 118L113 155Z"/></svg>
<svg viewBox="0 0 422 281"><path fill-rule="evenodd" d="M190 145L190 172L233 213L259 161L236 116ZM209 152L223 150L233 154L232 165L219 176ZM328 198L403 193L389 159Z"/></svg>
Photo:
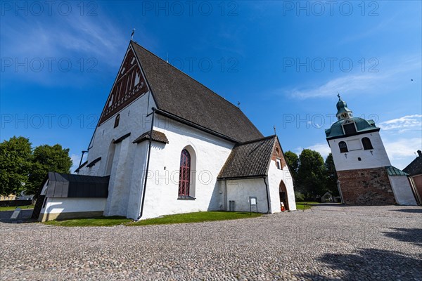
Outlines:
<svg viewBox="0 0 422 281"><path fill-rule="evenodd" d="M79 174L89 176L108 176L108 202L104 214L106 216L127 216L137 218L139 216L139 200L142 190L142 178L144 178L146 151L148 142L132 143L142 133L151 129L151 108L155 106L150 93L146 93L133 103L120 111L119 126L114 128L115 116L98 126L94 133L89 149L88 163L101 157L93 167L84 167ZM148 100L149 98L149 100ZM149 103L149 105L148 105ZM120 143L113 145L127 133L129 137ZM110 150L114 146L114 155ZM110 159L109 159L110 158ZM111 172L107 172L108 162L111 164ZM130 203L130 204L129 204Z"/></svg>

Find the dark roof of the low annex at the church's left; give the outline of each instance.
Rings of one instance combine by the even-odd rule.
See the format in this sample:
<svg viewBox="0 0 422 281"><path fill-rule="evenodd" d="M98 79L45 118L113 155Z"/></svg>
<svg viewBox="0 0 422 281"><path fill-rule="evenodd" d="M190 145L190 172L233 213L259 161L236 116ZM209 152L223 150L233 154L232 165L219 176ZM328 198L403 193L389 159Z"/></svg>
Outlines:
<svg viewBox="0 0 422 281"><path fill-rule="evenodd" d="M103 197L108 196L110 176L82 176L49 172L46 197Z"/></svg>

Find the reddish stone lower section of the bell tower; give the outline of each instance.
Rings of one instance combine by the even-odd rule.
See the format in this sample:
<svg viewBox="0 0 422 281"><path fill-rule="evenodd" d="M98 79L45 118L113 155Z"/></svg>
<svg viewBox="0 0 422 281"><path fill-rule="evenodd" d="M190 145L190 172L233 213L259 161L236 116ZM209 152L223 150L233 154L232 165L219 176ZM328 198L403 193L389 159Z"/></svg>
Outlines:
<svg viewBox="0 0 422 281"><path fill-rule="evenodd" d="M337 171L345 204L395 204L387 170L383 167Z"/></svg>

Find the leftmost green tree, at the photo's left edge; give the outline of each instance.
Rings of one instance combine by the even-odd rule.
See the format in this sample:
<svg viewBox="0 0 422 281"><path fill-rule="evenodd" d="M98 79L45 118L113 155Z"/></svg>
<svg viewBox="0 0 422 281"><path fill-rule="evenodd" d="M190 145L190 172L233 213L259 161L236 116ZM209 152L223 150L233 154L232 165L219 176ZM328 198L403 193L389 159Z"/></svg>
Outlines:
<svg viewBox="0 0 422 281"><path fill-rule="evenodd" d="M0 194L17 195L28 185L31 168L31 143L13 136L0 143Z"/></svg>

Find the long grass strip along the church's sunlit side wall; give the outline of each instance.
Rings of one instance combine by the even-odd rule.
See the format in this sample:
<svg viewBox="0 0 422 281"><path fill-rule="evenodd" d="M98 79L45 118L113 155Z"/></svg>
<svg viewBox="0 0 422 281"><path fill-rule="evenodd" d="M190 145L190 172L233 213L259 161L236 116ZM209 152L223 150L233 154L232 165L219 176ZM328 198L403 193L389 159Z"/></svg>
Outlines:
<svg viewBox="0 0 422 281"><path fill-rule="evenodd" d="M128 223L127 226L151 226L170 223L201 223L203 221L225 221L238 218L256 218L262 216L258 213L248 213L240 211L198 211L196 213L175 214L162 216L160 218L148 218L134 223Z"/></svg>

